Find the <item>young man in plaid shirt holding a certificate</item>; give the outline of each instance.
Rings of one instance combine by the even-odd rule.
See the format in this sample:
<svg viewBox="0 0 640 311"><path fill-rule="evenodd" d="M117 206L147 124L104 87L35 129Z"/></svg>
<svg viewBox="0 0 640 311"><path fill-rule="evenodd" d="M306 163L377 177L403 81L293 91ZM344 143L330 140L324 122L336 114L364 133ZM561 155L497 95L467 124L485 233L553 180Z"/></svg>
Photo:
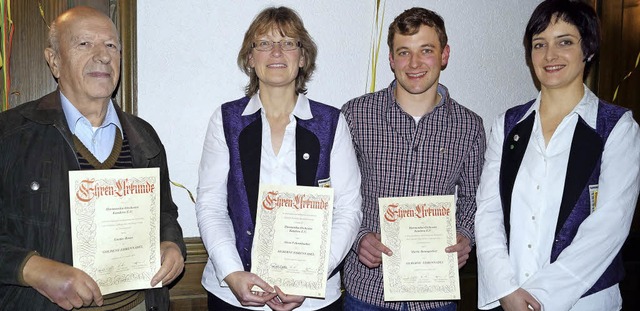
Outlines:
<svg viewBox="0 0 640 311"><path fill-rule="evenodd" d="M457 188L459 267L474 241L475 193L485 133L478 115L438 84L449 60L444 21L412 8L389 26L389 62L395 81L342 108L362 174L363 221L344 267L345 310L455 310L451 301L385 302L378 198L451 195ZM384 253L385 255L382 255Z"/></svg>

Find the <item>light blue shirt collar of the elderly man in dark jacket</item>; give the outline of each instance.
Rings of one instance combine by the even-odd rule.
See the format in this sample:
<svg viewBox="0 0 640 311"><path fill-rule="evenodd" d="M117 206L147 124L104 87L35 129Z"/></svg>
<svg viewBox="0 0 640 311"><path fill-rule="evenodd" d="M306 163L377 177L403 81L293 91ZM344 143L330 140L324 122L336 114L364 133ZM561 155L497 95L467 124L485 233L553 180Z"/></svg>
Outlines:
<svg viewBox="0 0 640 311"><path fill-rule="evenodd" d="M116 110L113 108L113 101L109 100L107 114L104 116L102 125L95 128L91 125L89 119L83 116L82 113L78 111L78 108L76 108L62 92L60 92L60 100L71 133L78 137L82 144L91 151L91 154L93 154L98 161L104 162L111 154L111 150L113 150L116 127L118 127L120 133L122 133L122 125L120 125Z"/></svg>

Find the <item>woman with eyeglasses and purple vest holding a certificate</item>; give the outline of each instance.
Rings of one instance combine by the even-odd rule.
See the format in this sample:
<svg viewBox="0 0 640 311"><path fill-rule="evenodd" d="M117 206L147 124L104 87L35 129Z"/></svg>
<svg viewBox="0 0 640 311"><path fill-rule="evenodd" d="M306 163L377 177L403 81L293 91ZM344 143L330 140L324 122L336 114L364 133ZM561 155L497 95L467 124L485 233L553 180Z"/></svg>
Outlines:
<svg viewBox="0 0 640 311"><path fill-rule="evenodd" d="M360 173L340 111L305 96L316 55L302 20L286 7L263 10L245 33L238 65L249 76L246 96L213 113L199 168L209 310L341 310L338 270L362 219ZM260 183L333 188L324 299L287 295L250 272Z"/></svg>

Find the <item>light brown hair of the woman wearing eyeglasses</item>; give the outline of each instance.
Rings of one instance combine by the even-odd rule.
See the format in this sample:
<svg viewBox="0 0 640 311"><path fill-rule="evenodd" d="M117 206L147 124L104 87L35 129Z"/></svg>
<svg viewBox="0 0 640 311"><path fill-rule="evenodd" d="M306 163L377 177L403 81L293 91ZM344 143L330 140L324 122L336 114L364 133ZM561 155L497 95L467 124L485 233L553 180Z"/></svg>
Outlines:
<svg viewBox="0 0 640 311"><path fill-rule="evenodd" d="M306 94L306 84L311 80L311 75L316 69L318 47L304 28L300 16L294 10L281 6L262 10L253 19L249 29L244 34L242 48L238 53L238 67L249 76L249 83L245 87L245 95L251 97L258 92L259 88L258 76L254 70L251 70L249 65L249 56L253 49L252 44L258 36L271 30L278 30L282 36L297 38L300 41L300 49L304 56L304 66L300 68L296 77L296 92Z"/></svg>

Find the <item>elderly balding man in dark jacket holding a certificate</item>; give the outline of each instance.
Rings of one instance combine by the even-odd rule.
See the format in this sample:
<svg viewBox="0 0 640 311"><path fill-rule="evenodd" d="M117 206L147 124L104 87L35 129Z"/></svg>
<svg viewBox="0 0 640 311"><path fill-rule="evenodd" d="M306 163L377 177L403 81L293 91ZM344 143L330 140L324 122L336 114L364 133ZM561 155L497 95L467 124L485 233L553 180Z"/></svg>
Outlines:
<svg viewBox="0 0 640 311"><path fill-rule="evenodd" d="M166 287L102 296L72 266L68 172L158 167L162 263L149 283L171 283L184 268L164 148L111 100L116 27L92 8L70 9L52 23L44 56L58 90L0 114L0 309L166 310Z"/></svg>

